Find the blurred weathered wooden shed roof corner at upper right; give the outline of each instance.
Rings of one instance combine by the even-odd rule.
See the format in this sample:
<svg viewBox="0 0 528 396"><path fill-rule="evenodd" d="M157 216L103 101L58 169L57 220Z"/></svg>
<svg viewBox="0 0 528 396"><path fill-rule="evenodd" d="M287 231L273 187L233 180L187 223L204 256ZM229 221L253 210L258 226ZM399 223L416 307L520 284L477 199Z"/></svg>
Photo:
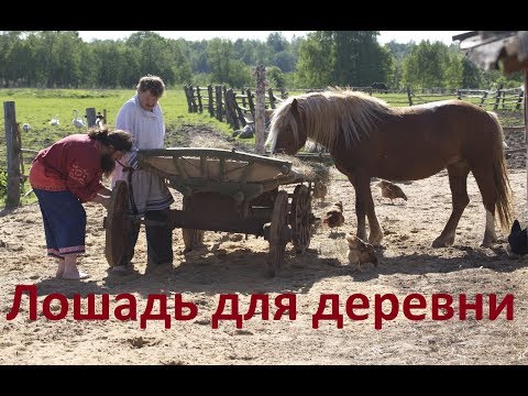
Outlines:
<svg viewBox="0 0 528 396"><path fill-rule="evenodd" d="M477 66L503 74L525 72L525 143L528 142L528 31L473 31L452 37ZM528 155L528 152L527 152ZM527 156L528 157L528 156ZM528 191L528 163L527 163ZM527 200L528 205L528 200ZM528 209L528 207L527 207Z"/></svg>

